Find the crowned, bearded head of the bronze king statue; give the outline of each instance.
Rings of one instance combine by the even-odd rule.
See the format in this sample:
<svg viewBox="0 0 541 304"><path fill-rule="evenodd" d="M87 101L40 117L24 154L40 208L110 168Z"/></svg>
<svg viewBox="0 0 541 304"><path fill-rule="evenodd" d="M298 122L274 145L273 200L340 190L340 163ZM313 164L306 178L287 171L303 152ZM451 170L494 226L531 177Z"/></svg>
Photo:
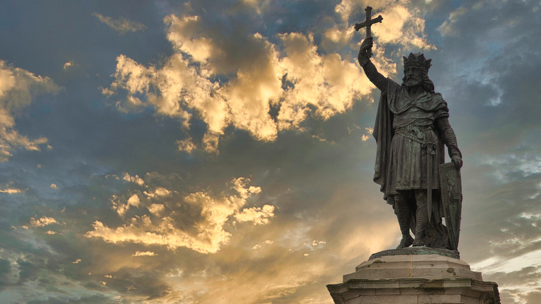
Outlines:
<svg viewBox="0 0 541 304"><path fill-rule="evenodd" d="M434 84L428 77L428 70L431 67L432 60L424 58L422 53L409 53L409 57L404 56L404 78L402 85L413 87L422 83L425 91L434 92Z"/></svg>

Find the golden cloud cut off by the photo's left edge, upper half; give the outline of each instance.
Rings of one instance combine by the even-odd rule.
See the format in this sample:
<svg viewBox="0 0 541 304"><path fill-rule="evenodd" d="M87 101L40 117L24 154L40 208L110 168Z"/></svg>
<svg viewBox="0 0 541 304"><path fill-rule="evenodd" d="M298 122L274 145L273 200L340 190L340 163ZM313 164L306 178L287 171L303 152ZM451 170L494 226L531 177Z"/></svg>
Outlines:
<svg viewBox="0 0 541 304"><path fill-rule="evenodd" d="M0 60L0 161L6 162L17 149L40 151L46 137L30 140L15 129L15 116L30 105L34 96L58 92L60 87L48 77L12 67Z"/></svg>

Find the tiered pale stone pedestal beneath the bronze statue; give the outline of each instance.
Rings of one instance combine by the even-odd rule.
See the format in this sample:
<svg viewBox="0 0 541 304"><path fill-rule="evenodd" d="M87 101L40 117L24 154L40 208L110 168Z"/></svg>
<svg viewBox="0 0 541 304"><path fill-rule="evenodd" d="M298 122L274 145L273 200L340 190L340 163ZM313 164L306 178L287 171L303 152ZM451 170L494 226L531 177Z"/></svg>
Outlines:
<svg viewBox="0 0 541 304"><path fill-rule="evenodd" d="M457 257L431 248L382 251L327 289L336 304L499 304L497 284Z"/></svg>

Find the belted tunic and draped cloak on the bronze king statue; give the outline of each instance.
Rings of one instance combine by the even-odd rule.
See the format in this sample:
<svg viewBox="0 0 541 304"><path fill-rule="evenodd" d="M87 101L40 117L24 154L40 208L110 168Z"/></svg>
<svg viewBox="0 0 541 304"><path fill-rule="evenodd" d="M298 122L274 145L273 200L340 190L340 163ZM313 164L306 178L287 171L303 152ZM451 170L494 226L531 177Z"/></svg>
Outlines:
<svg viewBox="0 0 541 304"><path fill-rule="evenodd" d="M381 94L374 133L378 142L374 180L381 185L385 197L397 194L397 190L427 189L426 144L434 144L432 189L438 189L438 164L444 162L445 154L434 121L449 117L447 103L441 94L426 91L411 99L405 87L389 78L387 82L387 90ZM386 128L392 130L389 132ZM388 147L381 146L381 138L378 140L378 134L385 133L390 137L384 139ZM383 167L382 160L387 160ZM381 174L383 172L385 174Z"/></svg>

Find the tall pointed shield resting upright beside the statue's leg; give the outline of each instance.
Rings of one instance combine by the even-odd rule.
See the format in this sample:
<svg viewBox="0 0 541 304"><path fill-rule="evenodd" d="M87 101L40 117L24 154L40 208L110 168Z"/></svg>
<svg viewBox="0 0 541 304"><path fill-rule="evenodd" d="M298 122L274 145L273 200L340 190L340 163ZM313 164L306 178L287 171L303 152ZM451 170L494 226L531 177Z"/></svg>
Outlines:
<svg viewBox="0 0 541 304"><path fill-rule="evenodd" d="M457 250L461 231L462 182L461 172L453 162L440 164L440 189L449 244L453 250Z"/></svg>

